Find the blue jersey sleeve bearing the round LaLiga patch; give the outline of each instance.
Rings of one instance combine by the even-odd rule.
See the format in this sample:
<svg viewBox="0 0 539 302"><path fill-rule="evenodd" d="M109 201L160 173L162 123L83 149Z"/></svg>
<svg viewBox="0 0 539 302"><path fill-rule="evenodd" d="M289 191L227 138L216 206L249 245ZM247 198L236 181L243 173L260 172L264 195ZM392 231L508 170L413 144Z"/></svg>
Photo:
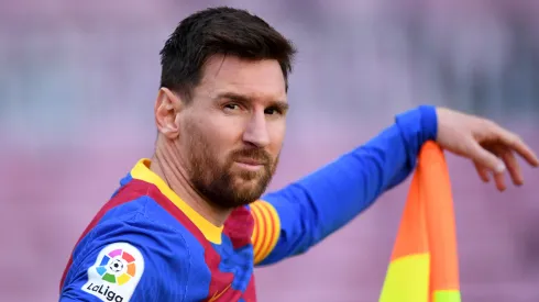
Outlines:
<svg viewBox="0 0 539 302"><path fill-rule="evenodd" d="M59 301L184 301L189 253L182 238L143 214L98 224L75 248Z"/></svg>

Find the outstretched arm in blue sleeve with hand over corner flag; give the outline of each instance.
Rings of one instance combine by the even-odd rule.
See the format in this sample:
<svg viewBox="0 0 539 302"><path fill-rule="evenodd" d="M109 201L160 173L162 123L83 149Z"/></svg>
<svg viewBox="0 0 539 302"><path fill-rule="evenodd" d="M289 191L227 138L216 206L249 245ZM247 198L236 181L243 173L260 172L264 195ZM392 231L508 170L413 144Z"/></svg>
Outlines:
<svg viewBox="0 0 539 302"><path fill-rule="evenodd" d="M420 107L367 144L252 204L255 264L301 254L400 183L415 167L422 144L436 139L446 150L470 158L488 182L505 190L505 172L524 183L516 154L539 166L518 135L496 123L449 109Z"/></svg>

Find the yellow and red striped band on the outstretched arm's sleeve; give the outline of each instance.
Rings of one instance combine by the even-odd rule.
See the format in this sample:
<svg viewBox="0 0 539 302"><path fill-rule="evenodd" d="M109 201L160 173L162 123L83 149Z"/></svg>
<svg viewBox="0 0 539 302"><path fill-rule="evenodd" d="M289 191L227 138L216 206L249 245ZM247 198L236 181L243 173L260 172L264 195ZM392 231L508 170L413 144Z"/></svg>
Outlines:
<svg viewBox="0 0 539 302"><path fill-rule="evenodd" d="M251 241L254 248L254 264L262 262L277 244L280 234L280 220L277 211L266 201L251 203L254 230Z"/></svg>

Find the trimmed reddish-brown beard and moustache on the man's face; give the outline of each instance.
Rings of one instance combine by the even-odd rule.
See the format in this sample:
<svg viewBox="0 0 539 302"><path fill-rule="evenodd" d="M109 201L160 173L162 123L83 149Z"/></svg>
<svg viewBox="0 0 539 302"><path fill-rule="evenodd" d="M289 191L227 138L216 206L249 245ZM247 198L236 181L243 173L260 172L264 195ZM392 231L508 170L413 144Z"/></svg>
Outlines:
<svg viewBox="0 0 539 302"><path fill-rule="evenodd" d="M265 149L252 146L232 152L221 163L205 135L191 127L189 136L188 177L205 200L220 209L233 209L261 198L275 174L278 156L272 159ZM234 163L246 158L263 167L256 171L234 170Z"/></svg>

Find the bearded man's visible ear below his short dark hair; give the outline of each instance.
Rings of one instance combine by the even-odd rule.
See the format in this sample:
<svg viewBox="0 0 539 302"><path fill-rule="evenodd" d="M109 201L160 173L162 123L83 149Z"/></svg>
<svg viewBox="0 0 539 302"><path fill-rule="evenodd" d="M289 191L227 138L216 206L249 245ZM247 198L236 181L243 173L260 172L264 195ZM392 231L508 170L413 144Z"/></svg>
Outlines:
<svg viewBox="0 0 539 302"><path fill-rule="evenodd" d="M167 138L175 138L179 134L179 112L184 103L180 98L168 88L162 87L155 101L154 114L157 130Z"/></svg>

